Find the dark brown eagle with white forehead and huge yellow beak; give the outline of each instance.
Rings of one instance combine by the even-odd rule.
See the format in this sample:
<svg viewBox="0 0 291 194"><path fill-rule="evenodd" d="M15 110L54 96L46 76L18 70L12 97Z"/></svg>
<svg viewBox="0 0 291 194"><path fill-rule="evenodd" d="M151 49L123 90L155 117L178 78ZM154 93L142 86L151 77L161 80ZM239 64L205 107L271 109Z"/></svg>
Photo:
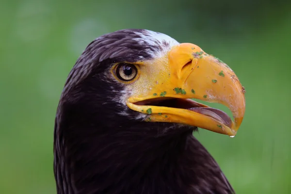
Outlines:
<svg viewBox="0 0 291 194"><path fill-rule="evenodd" d="M193 99L226 105L223 111ZM243 87L220 59L159 32L120 30L82 52L54 127L58 194L231 194L193 136L236 135Z"/></svg>

